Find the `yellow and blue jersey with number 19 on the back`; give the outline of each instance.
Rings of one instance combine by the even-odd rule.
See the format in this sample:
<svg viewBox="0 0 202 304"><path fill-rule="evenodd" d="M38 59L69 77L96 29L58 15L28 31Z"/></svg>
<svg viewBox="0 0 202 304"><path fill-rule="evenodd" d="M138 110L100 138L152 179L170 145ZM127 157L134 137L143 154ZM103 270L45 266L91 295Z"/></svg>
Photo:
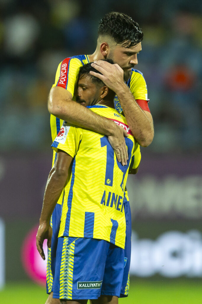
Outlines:
<svg viewBox="0 0 202 304"><path fill-rule="evenodd" d="M64 122L52 147L72 158L66 185L61 194L62 216L59 237L90 237L125 246L126 220L124 189L131 159L140 163L140 146L123 115L104 105L90 110L123 126L129 160L122 166L116 159L107 136Z"/></svg>

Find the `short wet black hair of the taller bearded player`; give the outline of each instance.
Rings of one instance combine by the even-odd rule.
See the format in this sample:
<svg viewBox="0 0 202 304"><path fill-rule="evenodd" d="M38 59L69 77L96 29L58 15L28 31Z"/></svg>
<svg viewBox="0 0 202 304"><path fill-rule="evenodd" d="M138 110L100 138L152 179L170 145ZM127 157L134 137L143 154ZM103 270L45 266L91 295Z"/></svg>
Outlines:
<svg viewBox="0 0 202 304"><path fill-rule="evenodd" d="M130 16L119 12L110 12L100 20L98 36L109 35L122 47L134 47L143 40L143 31Z"/></svg>

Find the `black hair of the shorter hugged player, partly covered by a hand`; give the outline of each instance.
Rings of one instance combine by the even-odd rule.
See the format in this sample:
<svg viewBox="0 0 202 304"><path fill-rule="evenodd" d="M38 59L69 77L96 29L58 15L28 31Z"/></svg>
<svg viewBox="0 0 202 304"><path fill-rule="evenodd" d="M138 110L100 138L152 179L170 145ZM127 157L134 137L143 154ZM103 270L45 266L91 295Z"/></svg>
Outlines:
<svg viewBox="0 0 202 304"><path fill-rule="evenodd" d="M112 59L102 59L102 60L103 60L103 61L107 61L107 62L109 62L109 63L111 63L111 64L114 63ZM97 71L94 67L91 66L92 63L93 63L93 62L90 62L90 63L84 64L83 66L80 67L78 79L82 78L81 76L84 76L84 77L85 77L85 75L86 75L86 76L89 76L90 80L91 80L94 84L96 84L96 85L98 85L98 86L100 86L100 87L103 87L103 86L105 85L104 82L103 82L101 79L99 79L99 78L97 78L97 77L95 77L95 76L93 76L93 75L91 75L91 74L89 73L90 71L93 71L93 72L96 72L96 73L102 75L102 73L100 73L100 72Z"/></svg>

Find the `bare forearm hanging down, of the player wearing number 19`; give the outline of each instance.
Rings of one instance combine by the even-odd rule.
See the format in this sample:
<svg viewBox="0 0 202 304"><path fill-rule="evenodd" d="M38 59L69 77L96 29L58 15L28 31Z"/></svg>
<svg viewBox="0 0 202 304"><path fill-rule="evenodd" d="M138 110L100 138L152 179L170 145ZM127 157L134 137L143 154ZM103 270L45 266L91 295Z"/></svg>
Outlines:
<svg viewBox="0 0 202 304"><path fill-rule="evenodd" d="M49 223L52 212L62 193L67 176L58 176L52 169L45 187L40 223Z"/></svg>

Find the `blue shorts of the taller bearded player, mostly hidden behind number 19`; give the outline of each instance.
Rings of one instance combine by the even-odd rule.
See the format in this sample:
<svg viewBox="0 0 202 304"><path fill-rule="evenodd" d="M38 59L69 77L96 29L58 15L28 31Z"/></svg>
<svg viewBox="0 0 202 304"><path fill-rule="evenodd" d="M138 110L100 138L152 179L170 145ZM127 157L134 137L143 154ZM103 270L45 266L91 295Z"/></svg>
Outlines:
<svg viewBox="0 0 202 304"><path fill-rule="evenodd" d="M55 276L56 265L56 249L58 243L58 233L61 218L61 206L56 204L52 213L51 226L52 226L52 240L51 249L48 249L47 258L47 272L46 272L46 291L52 292L52 283ZM131 256L131 212L129 201L124 201L124 212L126 217L126 240L124 249L124 272L121 286L120 298L127 297L129 291L129 269L130 269L130 256Z"/></svg>

